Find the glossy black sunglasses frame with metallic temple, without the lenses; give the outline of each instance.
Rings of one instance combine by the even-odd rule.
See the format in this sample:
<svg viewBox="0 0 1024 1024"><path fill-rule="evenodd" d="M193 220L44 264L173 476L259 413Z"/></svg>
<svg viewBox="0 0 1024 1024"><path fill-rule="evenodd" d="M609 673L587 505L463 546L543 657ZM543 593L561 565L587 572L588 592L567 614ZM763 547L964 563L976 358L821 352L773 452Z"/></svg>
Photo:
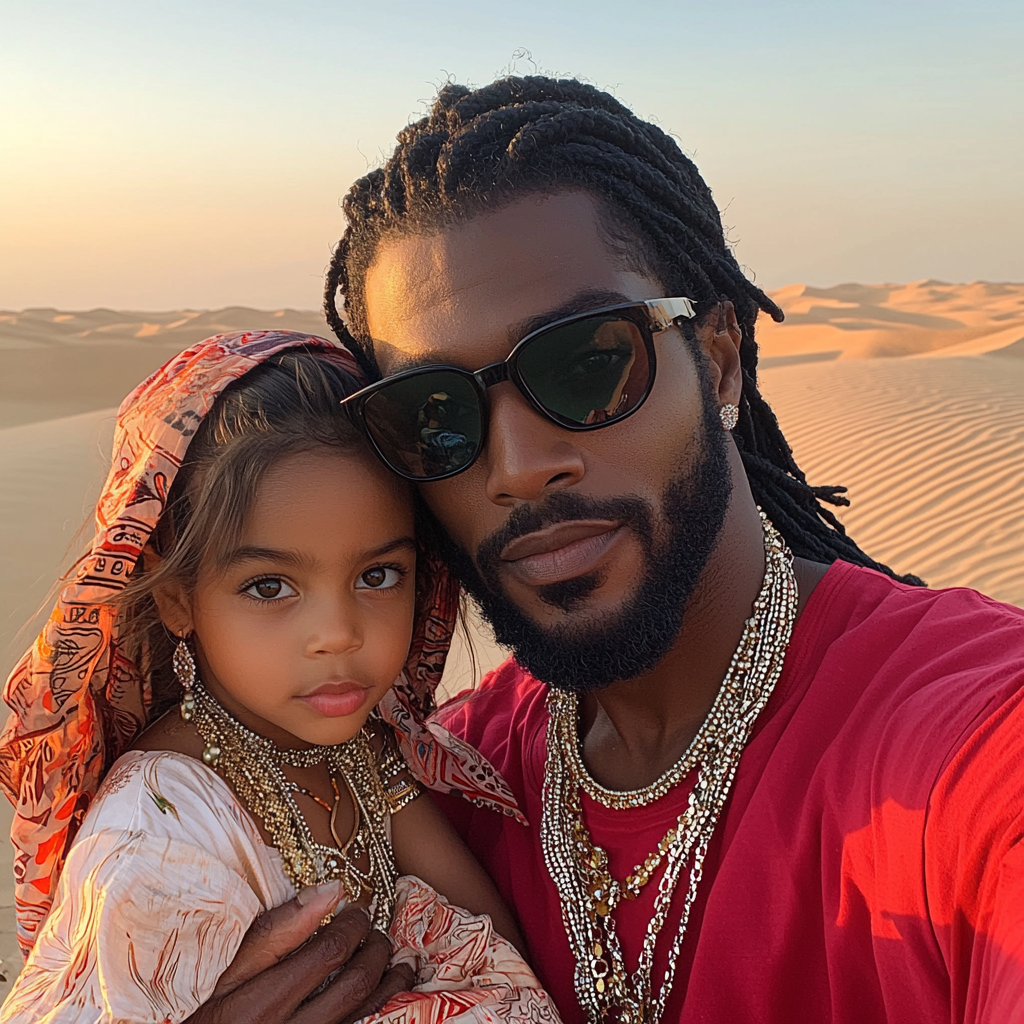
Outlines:
<svg viewBox="0 0 1024 1024"><path fill-rule="evenodd" d="M636 404L628 413L624 413L622 416L616 416L613 420L602 420L599 423L566 422L550 410L545 409L530 390L526 382L522 379L519 374L518 367L519 354L527 345L537 341L540 337L551 331L557 331L559 328L567 327L568 325L577 324L581 321L591 319L594 316L603 316L607 313L615 313L620 318L628 319L639 328L640 337L643 339L644 348L647 351L647 361L650 366L647 386ZM613 306L602 306L599 309L591 309L585 313L575 313L572 316L563 316L561 319L554 321L551 324L546 324L544 327L538 328L536 331L530 331L529 334L520 338L519 341L515 343L512 351L509 352L504 359L499 359L497 362L488 362L485 367L481 367L479 370L464 370L462 367L453 367L443 362L431 364L425 367L414 367L411 370L402 370L397 374L392 374L390 377L384 377L376 383L361 388L356 391L355 394L350 394L347 398L342 398L340 404L356 427L358 427L366 435L377 458L380 459L392 473L395 473L397 476L400 476L406 480L411 480L413 483L434 483L438 480L446 480L450 477L458 476L460 473L464 473L473 465L473 463L476 462L477 459L479 459L480 453L483 451L487 442L487 427L490 422L490 417L488 415L489 402L487 401L488 388L494 387L496 384L501 384L504 381L510 381L515 386L516 390L526 399L526 401L529 402L531 409L543 416L549 423L554 423L556 426L563 427L566 430L583 432L587 430L600 430L602 427L610 427L615 423L622 423L623 420L629 419L643 406L650 395L651 389L654 386L654 377L657 373L657 359L654 354L654 335L660 334L663 331L668 331L669 328L678 326L677 321L692 319L694 316L696 316L696 310L693 307L693 302L690 299L683 297L671 299L644 299L640 302L626 302ZM409 380L413 377L422 377L425 374L437 373L439 371L443 371L444 373L454 373L464 380L468 380L472 385L480 403L480 440L477 444L476 454L464 466L460 466L458 469L451 470L447 473L442 473L437 476L414 476L396 468L381 451L376 438L367 426L364 416L364 407L370 398L377 394L378 391L382 391L384 388L396 383L397 381Z"/></svg>

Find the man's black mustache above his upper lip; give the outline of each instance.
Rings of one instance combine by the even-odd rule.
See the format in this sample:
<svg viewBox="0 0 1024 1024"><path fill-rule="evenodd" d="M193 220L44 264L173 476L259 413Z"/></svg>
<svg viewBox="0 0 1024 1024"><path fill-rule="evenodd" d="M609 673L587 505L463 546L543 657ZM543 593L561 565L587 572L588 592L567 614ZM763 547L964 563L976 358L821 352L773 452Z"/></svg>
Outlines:
<svg viewBox="0 0 1024 1024"><path fill-rule="evenodd" d="M480 542L476 564L484 577L494 579L501 552L520 537L536 534L545 526L578 519L614 519L632 529L650 550L654 540L654 510L642 498L623 495L618 498L586 498L572 490L557 490L537 505L513 509L505 523Z"/></svg>

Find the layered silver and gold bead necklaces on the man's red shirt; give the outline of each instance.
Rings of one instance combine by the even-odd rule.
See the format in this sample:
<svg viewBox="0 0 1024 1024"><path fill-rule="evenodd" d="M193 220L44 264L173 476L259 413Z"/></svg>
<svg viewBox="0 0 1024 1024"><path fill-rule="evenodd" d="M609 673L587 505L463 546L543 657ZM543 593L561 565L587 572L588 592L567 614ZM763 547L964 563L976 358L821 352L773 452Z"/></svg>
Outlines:
<svg viewBox="0 0 1024 1024"><path fill-rule="evenodd" d="M660 778L642 790L625 793L599 785L580 753L578 698L549 691L541 844L575 958L577 996L591 1024L609 1019L618 1024L657 1024L665 1014L708 846L754 724L782 674L797 616L797 581L792 553L764 512L761 520L765 579L754 602L754 614L743 627L708 717L682 758ZM666 796L694 768L697 779L686 810L657 849L625 882L613 879L607 852L594 843L584 822L581 791L606 807L643 807ZM665 873L654 898L654 916L647 925L637 970L631 975L612 914L623 899L640 895L663 862ZM687 863L691 866L682 918L655 996L651 980L654 949Z"/></svg>

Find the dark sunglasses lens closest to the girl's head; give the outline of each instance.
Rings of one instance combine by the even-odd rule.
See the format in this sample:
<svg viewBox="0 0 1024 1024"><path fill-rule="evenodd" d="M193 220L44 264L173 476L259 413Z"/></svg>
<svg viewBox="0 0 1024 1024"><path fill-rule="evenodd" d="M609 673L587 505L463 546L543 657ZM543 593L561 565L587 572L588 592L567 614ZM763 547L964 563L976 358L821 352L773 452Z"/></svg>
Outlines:
<svg viewBox="0 0 1024 1024"><path fill-rule="evenodd" d="M468 466L480 450L480 399L460 374L432 371L394 381L372 394L362 419L395 472L435 479Z"/></svg>

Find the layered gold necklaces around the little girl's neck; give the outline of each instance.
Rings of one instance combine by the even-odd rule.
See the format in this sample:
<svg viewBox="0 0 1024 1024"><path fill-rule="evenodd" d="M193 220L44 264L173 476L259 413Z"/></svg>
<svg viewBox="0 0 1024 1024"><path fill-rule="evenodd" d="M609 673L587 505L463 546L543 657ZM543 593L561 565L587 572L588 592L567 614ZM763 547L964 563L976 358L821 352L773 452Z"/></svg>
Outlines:
<svg viewBox="0 0 1024 1024"><path fill-rule="evenodd" d="M398 872L387 835L391 809L366 733L360 730L336 746L284 750L244 726L199 679L181 701L181 717L193 722L203 737L203 760L230 782L239 799L263 822L292 884L301 889L340 879L349 899L373 896L374 926L386 932L394 912ZM295 793L301 790L284 771L285 765L310 768L325 762L335 790L331 835L336 847L313 838L295 802ZM335 830L341 802L339 776L352 796L355 814L345 843ZM369 861L368 870L358 866L364 858Z"/></svg>

